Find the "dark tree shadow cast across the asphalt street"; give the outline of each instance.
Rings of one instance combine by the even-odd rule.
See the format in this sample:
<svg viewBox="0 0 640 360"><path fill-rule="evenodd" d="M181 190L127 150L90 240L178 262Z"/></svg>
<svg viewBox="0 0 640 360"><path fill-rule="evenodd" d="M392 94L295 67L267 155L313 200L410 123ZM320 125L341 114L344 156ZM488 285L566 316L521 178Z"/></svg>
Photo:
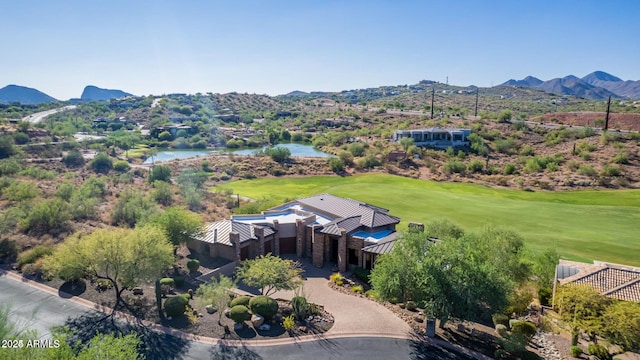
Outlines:
<svg viewBox="0 0 640 360"><path fill-rule="evenodd" d="M180 359L188 351L189 342L168 334L159 333L139 324L106 317L102 313L90 313L68 319L65 326L75 332L70 341L87 344L98 332L102 334L128 335L137 334L140 353L147 359Z"/></svg>

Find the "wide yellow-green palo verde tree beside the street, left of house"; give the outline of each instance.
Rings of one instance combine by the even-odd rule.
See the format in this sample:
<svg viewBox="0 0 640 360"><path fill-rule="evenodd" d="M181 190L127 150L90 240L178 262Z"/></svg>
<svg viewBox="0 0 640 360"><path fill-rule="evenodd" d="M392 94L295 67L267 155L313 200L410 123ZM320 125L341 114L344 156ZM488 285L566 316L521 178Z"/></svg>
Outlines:
<svg viewBox="0 0 640 360"><path fill-rule="evenodd" d="M173 246L156 226L135 229L99 229L88 235L74 235L45 260L45 270L63 280L84 276L108 281L115 289L116 302L124 290L155 280L174 263Z"/></svg>

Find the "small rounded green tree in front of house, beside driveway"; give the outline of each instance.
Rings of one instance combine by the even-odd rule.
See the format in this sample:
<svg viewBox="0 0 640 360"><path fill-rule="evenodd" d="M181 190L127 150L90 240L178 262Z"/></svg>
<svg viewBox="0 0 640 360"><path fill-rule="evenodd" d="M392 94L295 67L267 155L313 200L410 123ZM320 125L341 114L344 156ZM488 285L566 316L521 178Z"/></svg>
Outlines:
<svg viewBox="0 0 640 360"><path fill-rule="evenodd" d="M236 274L245 284L260 288L262 295L294 290L302 284L300 263L271 254L243 261Z"/></svg>

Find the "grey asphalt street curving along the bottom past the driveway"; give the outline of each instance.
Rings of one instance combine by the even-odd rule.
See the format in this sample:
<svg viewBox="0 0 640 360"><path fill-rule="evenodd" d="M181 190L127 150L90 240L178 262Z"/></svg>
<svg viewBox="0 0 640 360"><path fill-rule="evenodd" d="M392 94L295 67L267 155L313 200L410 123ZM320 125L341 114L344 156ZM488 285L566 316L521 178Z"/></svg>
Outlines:
<svg viewBox="0 0 640 360"><path fill-rule="evenodd" d="M49 339L54 326L77 330L79 340L90 339L96 331L136 332L147 359L460 359L421 341L393 338L319 339L277 346L208 345L157 333L137 324L98 319L102 313L51 295L0 274L0 304L11 306L10 318L27 329L38 331L39 339Z"/></svg>

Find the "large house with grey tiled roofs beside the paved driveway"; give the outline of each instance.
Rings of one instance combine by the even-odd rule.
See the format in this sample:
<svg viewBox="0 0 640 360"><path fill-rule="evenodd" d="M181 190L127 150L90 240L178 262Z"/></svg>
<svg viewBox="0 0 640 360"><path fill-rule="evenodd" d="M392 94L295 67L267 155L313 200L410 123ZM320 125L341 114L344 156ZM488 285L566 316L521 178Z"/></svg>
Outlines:
<svg viewBox="0 0 640 360"><path fill-rule="evenodd" d="M386 209L321 194L210 223L188 247L231 261L271 252L309 257L317 267L336 263L340 271L371 269L375 257L392 248L399 222Z"/></svg>

